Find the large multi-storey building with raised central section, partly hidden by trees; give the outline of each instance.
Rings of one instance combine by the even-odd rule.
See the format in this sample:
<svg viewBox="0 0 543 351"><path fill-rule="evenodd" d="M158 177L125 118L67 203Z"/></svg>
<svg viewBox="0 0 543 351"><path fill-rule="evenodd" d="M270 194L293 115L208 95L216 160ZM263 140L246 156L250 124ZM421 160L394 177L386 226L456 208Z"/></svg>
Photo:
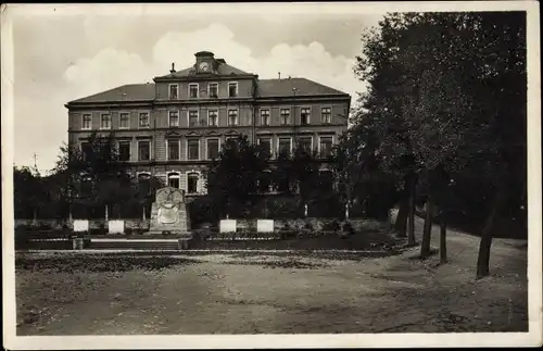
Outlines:
<svg viewBox="0 0 543 351"><path fill-rule="evenodd" d="M195 53L186 70L68 102L68 142L114 131L135 176L157 176L187 195L205 192L204 170L238 135L279 150L317 150L323 161L348 127L351 97L306 78L258 79Z"/></svg>

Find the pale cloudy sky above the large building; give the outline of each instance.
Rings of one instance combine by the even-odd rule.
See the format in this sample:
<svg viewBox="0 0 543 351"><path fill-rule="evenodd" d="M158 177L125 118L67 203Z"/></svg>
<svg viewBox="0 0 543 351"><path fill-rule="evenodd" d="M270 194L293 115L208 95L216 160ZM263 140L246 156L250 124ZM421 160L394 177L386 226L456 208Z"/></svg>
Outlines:
<svg viewBox="0 0 543 351"><path fill-rule="evenodd" d="M304 11L281 11L285 5L262 11L256 4L243 11L217 11L212 4L160 12L97 8L45 7L13 16L15 165L34 165L36 154L40 171L54 166L67 140L66 102L151 83L168 74L172 62L177 70L192 65L194 53L203 50L260 78L281 72L281 77L319 82L351 93L354 103L356 92L365 90L353 73L362 33L382 17L318 5Z"/></svg>

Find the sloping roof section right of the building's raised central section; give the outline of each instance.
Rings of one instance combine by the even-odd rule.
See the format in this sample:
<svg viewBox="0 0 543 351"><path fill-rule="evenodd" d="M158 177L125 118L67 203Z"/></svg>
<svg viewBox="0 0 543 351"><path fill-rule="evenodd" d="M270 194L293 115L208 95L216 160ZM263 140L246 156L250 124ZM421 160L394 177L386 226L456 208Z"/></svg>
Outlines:
<svg viewBox="0 0 543 351"><path fill-rule="evenodd" d="M258 98L272 97L307 97L307 96L338 96L346 92L327 87L306 78L260 79L257 88Z"/></svg>

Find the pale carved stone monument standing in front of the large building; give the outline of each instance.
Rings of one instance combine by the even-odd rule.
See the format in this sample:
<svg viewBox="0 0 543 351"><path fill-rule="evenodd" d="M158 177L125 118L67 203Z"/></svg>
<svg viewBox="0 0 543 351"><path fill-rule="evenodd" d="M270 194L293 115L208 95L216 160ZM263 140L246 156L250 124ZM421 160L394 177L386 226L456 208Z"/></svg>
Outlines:
<svg viewBox="0 0 543 351"><path fill-rule="evenodd" d="M178 238L191 238L185 191L172 187L156 190L147 234L168 234Z"/></svg>

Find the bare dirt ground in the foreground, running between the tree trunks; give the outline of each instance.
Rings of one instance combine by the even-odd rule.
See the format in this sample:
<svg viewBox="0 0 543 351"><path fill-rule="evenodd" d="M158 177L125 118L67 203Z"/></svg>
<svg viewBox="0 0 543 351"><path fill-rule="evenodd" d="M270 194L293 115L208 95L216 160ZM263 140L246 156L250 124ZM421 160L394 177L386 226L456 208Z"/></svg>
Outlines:
<svg viewBox="0 0 543 351"><path fill-rule="evenodd" d="M17 335L527 331L526 241L494 240L492 276L475 280L478 243L450 233L443 266L412 259L418 248L386 258L171 255L160 269L144 255L85 269L81 254L17 253L42 262L17 268Z"/></svg>

